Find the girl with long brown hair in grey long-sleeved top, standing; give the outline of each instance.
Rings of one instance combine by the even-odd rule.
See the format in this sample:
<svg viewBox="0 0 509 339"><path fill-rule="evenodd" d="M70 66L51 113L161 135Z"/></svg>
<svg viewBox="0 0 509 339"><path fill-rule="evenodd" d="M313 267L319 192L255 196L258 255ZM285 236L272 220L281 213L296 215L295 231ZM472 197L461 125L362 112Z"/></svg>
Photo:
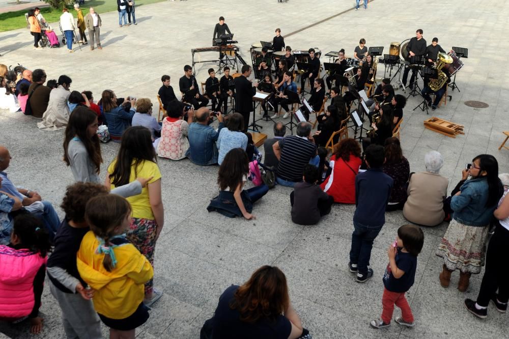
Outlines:
<svg viewBox="0 0 509 339"><path fill-rule="evenodd" d="M73 113L65 130L64 161L75 181L99 184L102 157L97 114L88 107L77 107Z"/></svg>

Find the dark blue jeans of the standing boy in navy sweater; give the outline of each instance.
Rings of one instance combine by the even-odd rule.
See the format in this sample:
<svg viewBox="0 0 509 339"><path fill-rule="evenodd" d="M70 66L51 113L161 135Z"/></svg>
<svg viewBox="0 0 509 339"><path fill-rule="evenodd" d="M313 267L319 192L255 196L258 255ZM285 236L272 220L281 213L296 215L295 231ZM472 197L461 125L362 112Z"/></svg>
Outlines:
<svg viewBox="0 0 509 339"><path fill-rule="evenodd" d="M353 222L352 248L350 249L350 262L357 264L357 270L361 274L367 273L370 265L371 249L373 241L380 233L383 225L367 226Z"/></svg>

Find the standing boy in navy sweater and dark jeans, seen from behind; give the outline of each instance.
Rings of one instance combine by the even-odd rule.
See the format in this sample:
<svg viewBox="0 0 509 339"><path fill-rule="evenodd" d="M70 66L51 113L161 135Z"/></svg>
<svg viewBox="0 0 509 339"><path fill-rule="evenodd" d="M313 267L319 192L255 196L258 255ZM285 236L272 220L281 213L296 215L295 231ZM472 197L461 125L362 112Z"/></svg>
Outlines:
<svg viewBox="0 0 509 339"><path fill-rule="evenodd" d="M382 171L385 161L384 148L370 145L366 148L368 170L355 177L354 231L350 250L350 272L357 273L357 282L373 276L369 268L373 241L385 223L385 206L389 202L392 178Z"/></svg>

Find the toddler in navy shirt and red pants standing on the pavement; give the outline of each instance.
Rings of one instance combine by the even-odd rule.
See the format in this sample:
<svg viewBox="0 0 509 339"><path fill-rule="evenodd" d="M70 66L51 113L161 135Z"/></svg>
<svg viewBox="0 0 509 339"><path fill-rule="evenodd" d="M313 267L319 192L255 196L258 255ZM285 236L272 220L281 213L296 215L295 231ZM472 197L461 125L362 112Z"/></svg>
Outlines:
<svg viewBox="0 0 509 339"><path fill-rule="evenodd" d="M398 229L398 237L387 250L389 264L383 275L385 286L382 296L381 319L371 321L374 328L390 326L394 305L401 308L401 317L394 318L400 325L412 327L414 319L405 293L414 283L417 255L424 244L424 233L415 225L403 225Z"/></svg>

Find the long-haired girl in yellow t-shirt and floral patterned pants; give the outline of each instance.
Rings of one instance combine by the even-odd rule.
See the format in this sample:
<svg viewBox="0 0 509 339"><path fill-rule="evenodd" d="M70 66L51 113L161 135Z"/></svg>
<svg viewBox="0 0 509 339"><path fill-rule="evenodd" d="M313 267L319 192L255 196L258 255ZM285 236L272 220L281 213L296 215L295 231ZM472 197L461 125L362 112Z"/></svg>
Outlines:
<svg viewBox="0 0 509 339"><path fill-rule="evenodd" d="M156 161L150 131L143 126L129 127L122 135L117 159L108 166L104 183L106 187L113 189L127 185L137 177L151 177L141 194L127 198L132 208L127 239L147 257L152 266L156 241L164 224L161 172ZM152 279L145 284L144 303L147 306L152 305L162 295L153 285Z"/></svg>

